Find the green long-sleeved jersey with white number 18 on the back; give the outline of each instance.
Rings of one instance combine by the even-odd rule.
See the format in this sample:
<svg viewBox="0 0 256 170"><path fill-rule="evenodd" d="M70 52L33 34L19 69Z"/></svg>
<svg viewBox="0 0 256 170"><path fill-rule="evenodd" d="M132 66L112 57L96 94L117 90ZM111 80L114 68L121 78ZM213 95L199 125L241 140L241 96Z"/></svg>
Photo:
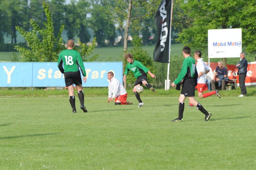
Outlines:
<svg viewBox="0 0 256 170"><path fill-rule="evenodd" d="M64 65L64 68L62 67L62 64ZM60 69L60 72L76 72L79 67L83 76L86 76L84 63L78 51L69 49L60 53L58 59L58 68Z"/></svg>

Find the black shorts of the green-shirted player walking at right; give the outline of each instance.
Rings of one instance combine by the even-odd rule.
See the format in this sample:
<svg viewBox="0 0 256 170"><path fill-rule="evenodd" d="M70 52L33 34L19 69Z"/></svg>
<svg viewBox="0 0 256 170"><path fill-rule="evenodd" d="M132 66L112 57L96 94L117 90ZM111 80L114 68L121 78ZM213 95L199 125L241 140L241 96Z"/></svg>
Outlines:
<svg viewBox="0 0 256 170"><path fill-rule="evenodd" d="M183 80L183 86L180 94L184 94L186 97L195 96L195 80L193 78Z"/></svg>

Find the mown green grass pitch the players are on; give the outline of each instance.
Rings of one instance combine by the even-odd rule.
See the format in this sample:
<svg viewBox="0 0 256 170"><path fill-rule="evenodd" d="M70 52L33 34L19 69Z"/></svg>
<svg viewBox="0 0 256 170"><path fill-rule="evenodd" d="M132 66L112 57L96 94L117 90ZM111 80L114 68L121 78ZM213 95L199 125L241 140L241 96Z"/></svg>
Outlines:
<svg viewBox="0 0 256 170"><path fill-rule="evenodd" d="M134 105L107 103L107 88L85 88L88 113L73 114L67 90L0 90L0 169L255 169L256 90L199 99L178 116L179 91L141 94ZM76 106L79 107L76 94ZM186 100L185 105L188 104Z"/></svg>

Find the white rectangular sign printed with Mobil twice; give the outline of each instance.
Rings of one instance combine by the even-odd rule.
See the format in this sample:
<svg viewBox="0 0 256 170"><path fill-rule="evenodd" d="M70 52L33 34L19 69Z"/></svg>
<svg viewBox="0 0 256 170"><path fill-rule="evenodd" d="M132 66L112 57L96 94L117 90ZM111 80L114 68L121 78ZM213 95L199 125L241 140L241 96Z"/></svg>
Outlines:
<svg viewBox="0 0 256 170"><path fill-rule="evenodd" d="M208 58L240 57L242 29L209 29Z"/></svg>

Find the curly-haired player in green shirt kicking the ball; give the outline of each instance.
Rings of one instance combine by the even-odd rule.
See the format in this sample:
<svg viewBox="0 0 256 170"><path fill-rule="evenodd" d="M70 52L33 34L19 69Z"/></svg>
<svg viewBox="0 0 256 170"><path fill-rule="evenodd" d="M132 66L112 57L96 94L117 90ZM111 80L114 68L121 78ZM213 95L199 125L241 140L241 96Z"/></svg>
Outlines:
<svg viewBox="0 0 256 170"><path fill-rule="evenodd" d="M142 84L144 84L152 92L156 93L156 90L148 83L147 73L150 74L150 76L152 78L156 78L156 76L155 76L155 74L152 74L150 72L150 70L148 70L148 68L146 68L142 63L140 63L139 61L134 60L131 53L126 53L124 55L124 57L126 58L126 60L128 62L128 64L126 65L125 72L124 72L124 82L126 82L126 75L131 70L134 73L134 77L137 78L137 80L134 83L134 88L133 88L132 91L134 92L134 94L135 94L135 96L136 96L136 98L139 102L138 107L141 107L141 106L144 105L144 103L140 99L140 94L138 94L136 92L136 88L138 86L141 86Z"/></svg>

